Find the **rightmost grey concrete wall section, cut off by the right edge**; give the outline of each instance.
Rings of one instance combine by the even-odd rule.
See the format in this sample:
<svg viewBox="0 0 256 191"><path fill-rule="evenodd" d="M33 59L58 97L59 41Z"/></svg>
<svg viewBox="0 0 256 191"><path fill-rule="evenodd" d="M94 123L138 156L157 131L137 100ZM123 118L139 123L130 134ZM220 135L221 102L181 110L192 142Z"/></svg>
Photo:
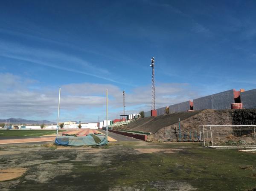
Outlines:
<svg viewBox="0 0 256 191"><path fill-rule="evenodd" d="M241 92L240 98L244 109L256 108L256 89Z"/></svg>

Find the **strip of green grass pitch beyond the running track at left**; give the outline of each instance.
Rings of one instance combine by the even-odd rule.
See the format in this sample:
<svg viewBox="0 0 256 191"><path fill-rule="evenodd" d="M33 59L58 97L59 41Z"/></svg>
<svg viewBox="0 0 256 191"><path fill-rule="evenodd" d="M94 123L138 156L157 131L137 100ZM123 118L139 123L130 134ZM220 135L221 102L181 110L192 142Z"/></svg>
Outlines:
<svg viewBox="0 0 256 191"><path fill-rule="evenodd" d="M59 130L62 132L65 130ZM42 135L54 134L56 130L0 130L0 137L19 137L19 136L31 136L31 137L40 137Z"/></svg>

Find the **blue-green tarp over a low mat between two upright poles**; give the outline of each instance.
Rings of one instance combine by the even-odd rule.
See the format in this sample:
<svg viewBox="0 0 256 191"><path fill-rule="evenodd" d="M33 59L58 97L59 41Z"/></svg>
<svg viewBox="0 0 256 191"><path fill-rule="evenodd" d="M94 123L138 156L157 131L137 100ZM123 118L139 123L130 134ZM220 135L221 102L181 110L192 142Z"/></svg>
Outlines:
<svg viewBox="0 0 256 191"><path fill-rule="evenodd" d="M74 136L60 136L55 138L55 143L57 145L64 146L99 146L107 145L108 140L104 134L88 134L87 136L74 137Z"/></svg>

